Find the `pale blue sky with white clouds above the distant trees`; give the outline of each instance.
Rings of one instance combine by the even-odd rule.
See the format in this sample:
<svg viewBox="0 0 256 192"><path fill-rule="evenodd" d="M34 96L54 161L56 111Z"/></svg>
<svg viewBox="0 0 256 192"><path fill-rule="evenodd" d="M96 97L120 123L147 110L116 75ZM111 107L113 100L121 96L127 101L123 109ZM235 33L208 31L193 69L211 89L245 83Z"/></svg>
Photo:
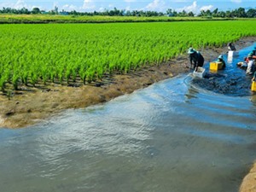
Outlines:
<svg viewBox="0 0 256 192"><path fill-rule="evenodd" d="M125 10L151 10L166 13L167 9L177 12L185 10L200 13L201 10L234 10L240 7L256 9L256 0L0 0L0 9L13 8L32 10L37 7L49 11L58 7L66 11L92 12L112 10L113 8Z"/></svg>

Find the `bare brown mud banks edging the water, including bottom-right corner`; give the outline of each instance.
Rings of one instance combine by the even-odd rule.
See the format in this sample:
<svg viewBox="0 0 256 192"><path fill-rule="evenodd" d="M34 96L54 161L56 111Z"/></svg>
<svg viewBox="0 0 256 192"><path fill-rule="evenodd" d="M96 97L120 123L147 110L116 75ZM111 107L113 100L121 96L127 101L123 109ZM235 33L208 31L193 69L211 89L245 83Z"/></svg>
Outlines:
<svg viewBox="0 0 256 192"><path fill-rule="evenodd" d="M236 49L252 45L256 37L241 38L235 42ZM227 46L199 49L205 57L205 63L225 54ZM108 102L114 97L129 94L134 90L147 87L163 79L169 79L180 73L189 72L188 55L179 55L175 59L161 63L160 66L143 67L127 74L106 76L102 81L92 84L37 84L36 87L19 87L9 94L0 92L0 127L20 128L33 125L60 113L67 108L85 108L100 102ZM244 178L241 192L256 191L256 164Z"/></svg>

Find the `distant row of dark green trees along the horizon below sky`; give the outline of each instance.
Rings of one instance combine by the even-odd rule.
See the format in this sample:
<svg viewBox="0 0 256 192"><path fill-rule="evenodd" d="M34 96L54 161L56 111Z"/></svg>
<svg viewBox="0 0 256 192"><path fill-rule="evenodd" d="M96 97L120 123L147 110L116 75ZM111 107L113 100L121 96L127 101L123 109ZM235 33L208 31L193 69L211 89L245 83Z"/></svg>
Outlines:
<svg viewBox="0 0 256 192"><path fill-rule="evenodd" d="M48 15L103 15L103 16L173 16L173 17L220 17L220 18L256 18L256 9L244 9L238 8L234 10L219 11L218 9L211 10L201 10L199 15L195 15L192 11L186 12L185 10L177 12L176 10L167 9L166 13L157 12L157 11L143 11L143 10L125 10L125 9L105 9L104 11L93 11L93 12L79 12L76 10L58 11L58 8L55 7L53 10L44 11L39 8L33 8L28 10L26 8L22 9L12 9L4 8L0 9L0 14L15 14L15 15L37 15L37 14L48 14Z"/></svg>

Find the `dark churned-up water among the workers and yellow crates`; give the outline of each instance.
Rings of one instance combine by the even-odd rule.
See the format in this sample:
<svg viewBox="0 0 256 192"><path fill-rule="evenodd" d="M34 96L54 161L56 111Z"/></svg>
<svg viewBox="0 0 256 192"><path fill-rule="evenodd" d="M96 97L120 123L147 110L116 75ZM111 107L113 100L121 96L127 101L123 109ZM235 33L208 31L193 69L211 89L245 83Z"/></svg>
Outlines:
<svg viewBox="0 0 256 192"><path fill-rule="evenodd" d="M245 69L242 70L236 64L244 61L244 57L253 48L254 46L250 46L242 49L236 56L224 55L226 68L219 70L218 73L209 72L209 64L207 64L205 68L208 73L205 79L193 79L192 84L227 96L250 96L252 94L250 90L252 76L246 75Z"/></svg>

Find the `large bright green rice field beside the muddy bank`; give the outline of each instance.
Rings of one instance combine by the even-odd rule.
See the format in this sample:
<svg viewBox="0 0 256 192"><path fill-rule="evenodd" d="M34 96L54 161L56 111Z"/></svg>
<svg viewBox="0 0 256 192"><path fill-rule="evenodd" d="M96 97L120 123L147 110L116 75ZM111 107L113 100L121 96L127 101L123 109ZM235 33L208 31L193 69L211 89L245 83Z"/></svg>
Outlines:
<svg viewBox="0 0 256 192"><path fill-rule="evenodd" d="M106 73L160 65L190 46L223 46L255 36L255 27L255 20L0 25L0 90L87 84Z"/></svg>

